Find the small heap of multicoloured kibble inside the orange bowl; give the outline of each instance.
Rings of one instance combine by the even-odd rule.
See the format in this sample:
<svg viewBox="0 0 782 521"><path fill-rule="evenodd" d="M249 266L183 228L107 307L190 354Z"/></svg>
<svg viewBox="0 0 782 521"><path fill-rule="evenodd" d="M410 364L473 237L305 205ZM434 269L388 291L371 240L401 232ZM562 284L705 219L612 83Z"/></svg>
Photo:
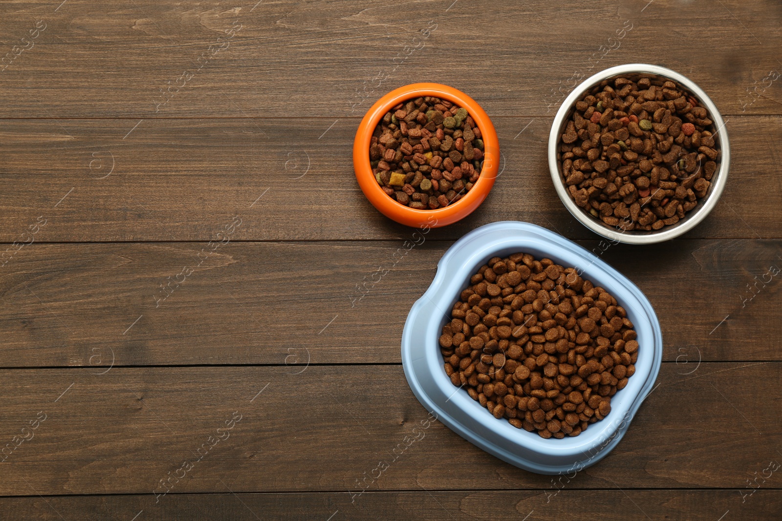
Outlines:
<svg viewBox="0 0 782 521"><path fill-rule="evenodd" d="M481 159L481 130L467 109L429 96L386 112L369 145L383 191L421 210L461 199L478 180Z"/></svg>

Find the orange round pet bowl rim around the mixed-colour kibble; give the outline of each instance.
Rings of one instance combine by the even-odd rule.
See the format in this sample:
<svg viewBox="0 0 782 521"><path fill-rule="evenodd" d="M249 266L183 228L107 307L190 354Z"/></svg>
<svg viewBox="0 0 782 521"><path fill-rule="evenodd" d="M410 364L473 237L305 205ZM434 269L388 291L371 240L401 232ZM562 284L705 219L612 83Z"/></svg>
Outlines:
<svg viewBox="0 0 782 521"><path fill-rule="evenodd" d="M390 198L386 192L382 191L369 164L369 144L372 132L383 115L389 112L393 106L421 96L443 98L467 109L472 120L481 130L483 139L483 166L480 177L475 181L472 189L454 204L434 210L410 208ZM405 85L378 99L361 120L356 132L356 139L353 141L353 169L356 171L356 179L361 186L361 191L364 191L369 202L384 216L409 227L443 227L474 212L486 199L494 185L500 166L499 159L500 143L497 140L497 131L494 130L489 116L481 108L481 105L478 105L464 92L441 84Z"/></svg>

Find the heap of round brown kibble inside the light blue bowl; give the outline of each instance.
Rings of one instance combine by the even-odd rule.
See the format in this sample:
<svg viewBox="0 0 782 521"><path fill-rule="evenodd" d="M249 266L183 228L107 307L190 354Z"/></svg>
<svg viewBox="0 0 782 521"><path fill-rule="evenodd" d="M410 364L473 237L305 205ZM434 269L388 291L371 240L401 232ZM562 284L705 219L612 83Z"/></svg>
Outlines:
<svg viewBox="0 0 782 521"><path fill-rule="evenodd" d="M439 337L445 372L497 419L541 437L578 436L611 411L638 342L603 288L551 259L481 266Z"/></svg>

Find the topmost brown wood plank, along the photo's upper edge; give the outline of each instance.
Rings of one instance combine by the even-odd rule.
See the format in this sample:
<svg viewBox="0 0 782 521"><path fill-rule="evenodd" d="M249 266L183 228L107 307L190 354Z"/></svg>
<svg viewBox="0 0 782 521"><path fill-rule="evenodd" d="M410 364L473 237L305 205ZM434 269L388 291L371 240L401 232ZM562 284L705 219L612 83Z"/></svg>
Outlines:
<svg viewBox="0 0 782 521"><path fill-rule="evenodd" d="M402 84L436 80L468 92L491 116L540 117L553 113L572 78L629 61L686 74L726 114L779 114L782 104L780 80L769 76L782 68L773 0L714 9L591 0L565 12L540 0L241 4L8 3L4 54L30 45L20 38L35 20L46 28L0 73L0 116L335 119L363 114ZM234 22L241 28L219 41ZM424 37L427 27L436 29Z"/></svg>

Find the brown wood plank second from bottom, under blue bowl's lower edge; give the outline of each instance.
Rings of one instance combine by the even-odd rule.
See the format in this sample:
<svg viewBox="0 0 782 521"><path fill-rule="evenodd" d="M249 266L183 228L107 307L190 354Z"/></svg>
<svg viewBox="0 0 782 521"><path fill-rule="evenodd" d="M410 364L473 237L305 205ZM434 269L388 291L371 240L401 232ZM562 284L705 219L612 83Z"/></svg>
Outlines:
<svg viewBox="0 0 782 521"><path fill-rule="evenodd" d="M21 429L39 412L46 418L2 462L0 494L150 494L170 472L179 478L172 494L223 491L223 480L235 493L345 498L386 460L389 467L365 481L369 490L553 487L551 476L500 462L439 422L423 428L427 414L400 366L286 369L5 370L0 432L8 443L26 435ZM569 490L744 490L753 472L779 461L782 363L706 362L686 377L665 363L658 382L622 442ZM235 414L239 423L217 430ZM394 460L406 436L418 441ZM224 439L199 460L209 437ZM185 460L192 468L183 475Z"/></svg>

